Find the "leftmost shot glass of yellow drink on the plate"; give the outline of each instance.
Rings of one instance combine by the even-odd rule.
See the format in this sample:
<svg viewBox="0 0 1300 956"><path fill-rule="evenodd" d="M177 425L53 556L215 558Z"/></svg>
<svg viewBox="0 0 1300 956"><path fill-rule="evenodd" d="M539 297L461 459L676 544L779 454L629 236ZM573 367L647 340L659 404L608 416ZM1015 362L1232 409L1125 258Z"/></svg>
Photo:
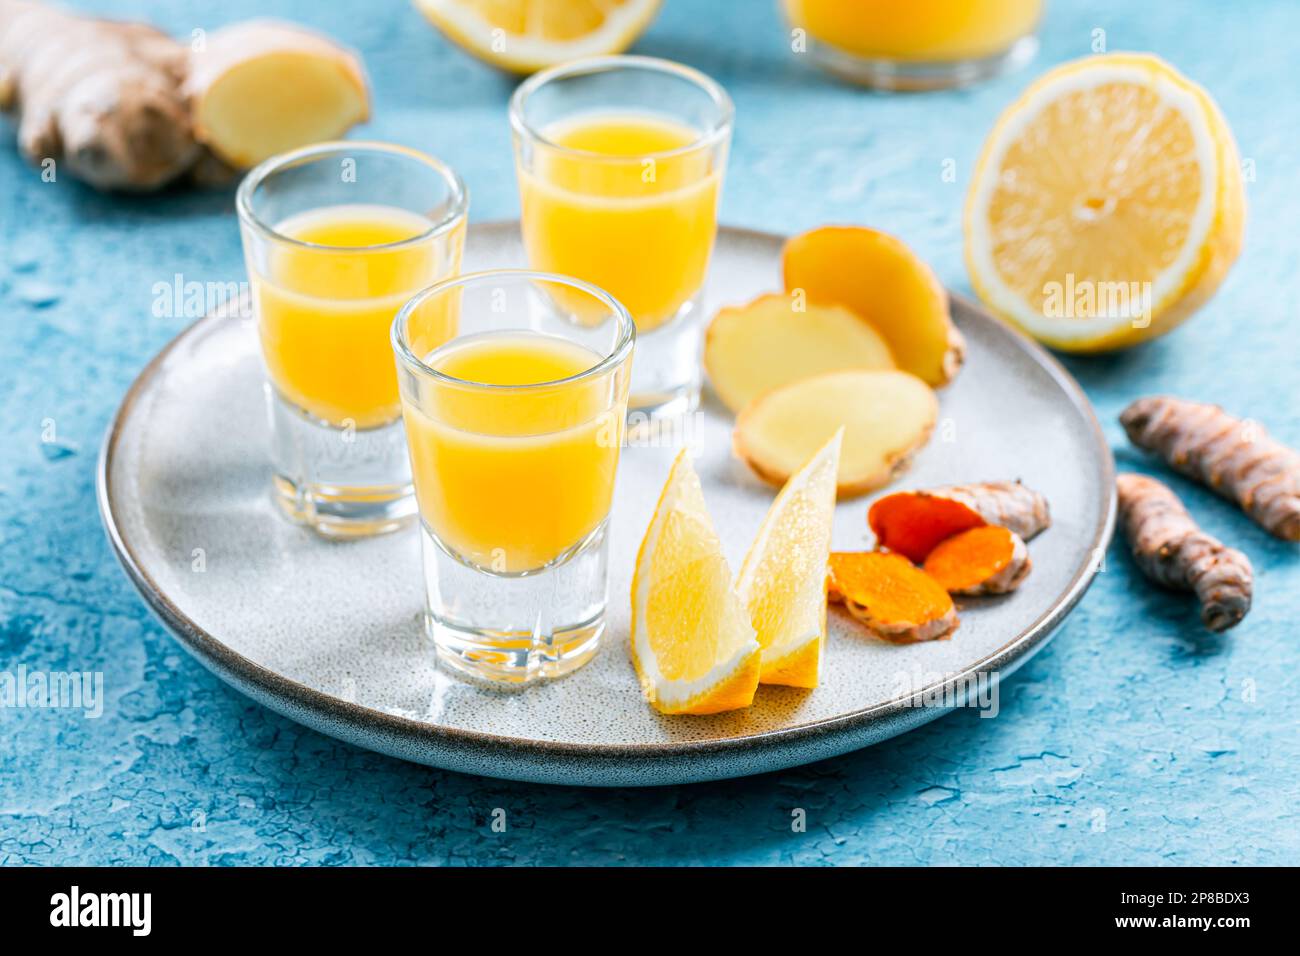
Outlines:
<svg viewBox="0 0 1300 956"><path fill-rule="evenodd" d="M389 330L415 293L460 271L460 177L400 146L321 143L248 173L237 207L276 502L328 536L408 523L416 506Z"/></svg>

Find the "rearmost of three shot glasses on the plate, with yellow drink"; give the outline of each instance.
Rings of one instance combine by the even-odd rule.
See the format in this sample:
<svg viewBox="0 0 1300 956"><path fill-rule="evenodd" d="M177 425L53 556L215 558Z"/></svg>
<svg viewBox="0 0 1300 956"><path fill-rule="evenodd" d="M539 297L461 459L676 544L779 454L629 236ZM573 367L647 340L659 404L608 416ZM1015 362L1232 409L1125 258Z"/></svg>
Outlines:
<svg viewBox="0 0 1300 956"><path fill-rule="evenodd" d="M592 282L632 313L640 418L699 401L701 291L732 112L705 74L642 56L545 70L510 103L529 264Z"/></svg>

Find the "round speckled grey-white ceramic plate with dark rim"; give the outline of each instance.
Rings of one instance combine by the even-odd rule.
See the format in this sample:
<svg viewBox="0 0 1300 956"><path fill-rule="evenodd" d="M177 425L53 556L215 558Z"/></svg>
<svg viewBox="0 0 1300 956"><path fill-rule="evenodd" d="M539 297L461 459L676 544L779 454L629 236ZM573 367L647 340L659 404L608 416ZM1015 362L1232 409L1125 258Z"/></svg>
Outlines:
<svg viewBox="0 0 1300 956"><path fill-rule="evenodd" d="M707 300L779 285L781 238L723 229ZM476 224L467 269L521 265L517 224ZM629 447L611 520L610 630L577 674L494 692L438 670L420 627L413 529L328 542L273 510L255 330L208 317L131 386L109 427L99 502L109 540L162 623L231 685L302 723L406 760L572 784L667 784L832 757L916 727L942 708L909 692L1006 676L1079 601L1114 524L1114 463L1087 399L1037 346L968 302L954 313L968 358L941 393L940 427L898 485L1019 477L1052 502L1015 594L963 602L950 641L893 646L838 610L823 685L763 687L751 708L660 717L628 658L632 563L672 449ZM731 419L706 395L689 434L732 566L772 499L731 454ZM870 546L870 498L842 502L837 549ZM240 741L231 740L231 747Z"/></svg>

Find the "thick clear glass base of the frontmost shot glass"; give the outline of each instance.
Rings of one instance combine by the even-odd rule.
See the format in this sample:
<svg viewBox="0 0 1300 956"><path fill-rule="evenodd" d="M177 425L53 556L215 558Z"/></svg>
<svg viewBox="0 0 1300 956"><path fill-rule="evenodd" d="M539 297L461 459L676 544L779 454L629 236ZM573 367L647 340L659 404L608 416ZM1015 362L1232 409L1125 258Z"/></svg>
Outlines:
<svg viewBox="0 0 1300 956"><path fill-rule="evenodd" d="M572 674L604 633L607 546L602 523L536 571L494 572L451 554L420 525L425 628L439 663L462 676L524 685Z"/></svg>

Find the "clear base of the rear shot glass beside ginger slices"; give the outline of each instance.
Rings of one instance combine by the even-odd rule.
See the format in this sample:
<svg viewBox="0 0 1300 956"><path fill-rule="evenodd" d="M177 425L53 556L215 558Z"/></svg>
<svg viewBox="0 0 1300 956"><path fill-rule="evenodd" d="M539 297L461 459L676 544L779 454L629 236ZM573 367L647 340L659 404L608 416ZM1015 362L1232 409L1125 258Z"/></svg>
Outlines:
<svg viewBox="0 0 1300 956"><path fill-rule="evenodd" d="M637 329L632 356L628 421L673 418L699 405L701 359L705 343L702 295L689 299L662 325Z"/></svg>

